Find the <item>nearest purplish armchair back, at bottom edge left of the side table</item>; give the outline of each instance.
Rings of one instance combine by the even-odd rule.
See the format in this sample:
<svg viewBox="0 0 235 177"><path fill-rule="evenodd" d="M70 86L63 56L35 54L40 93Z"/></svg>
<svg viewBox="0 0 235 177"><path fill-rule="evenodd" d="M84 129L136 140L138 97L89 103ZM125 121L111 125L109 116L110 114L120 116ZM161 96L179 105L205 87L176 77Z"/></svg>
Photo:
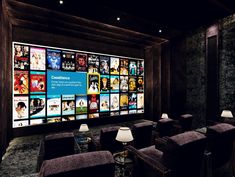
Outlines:
<svg viewBox="0 0 235 177"><path fill-rule="evenodd" d="M63 156L43 162L39 177L114 177L114 159L108 151Z"/></svg>

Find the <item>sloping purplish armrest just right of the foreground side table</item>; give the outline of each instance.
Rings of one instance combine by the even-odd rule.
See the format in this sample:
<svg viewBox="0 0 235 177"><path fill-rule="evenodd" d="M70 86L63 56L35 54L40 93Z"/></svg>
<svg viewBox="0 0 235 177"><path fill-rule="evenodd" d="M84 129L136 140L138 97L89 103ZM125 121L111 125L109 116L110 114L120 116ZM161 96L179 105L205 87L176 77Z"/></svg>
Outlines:
<svg viewBox="0 0 235 177"><path fill-rule="evenodd" d="M137 170L143 170L143 172L137 172L137 176L161 176L161 177L170 177L171 170L165 167L162 163L154 161L144 153L140 152L139 150L135 149L133 146L127 146L126 149L134 156L134 168L137 167ZM138 167L141 165L141 168ZM135 169L134 169L135 170ZM151 173L152 172L152 173ZM145 174L146 173L146 174ZM134 174L135 175L135 174Z"/></svg>

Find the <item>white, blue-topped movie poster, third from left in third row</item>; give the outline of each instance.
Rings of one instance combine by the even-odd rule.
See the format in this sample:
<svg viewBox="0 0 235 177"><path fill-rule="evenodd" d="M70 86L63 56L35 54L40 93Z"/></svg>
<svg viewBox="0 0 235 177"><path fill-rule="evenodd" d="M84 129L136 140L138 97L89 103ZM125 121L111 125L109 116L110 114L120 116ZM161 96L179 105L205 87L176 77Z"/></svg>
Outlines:
<svg viewBox="0 0 235 177"><path fill-rule="evenodd" d="M61 96L47 95L47 116L61 115Z"/></svg>

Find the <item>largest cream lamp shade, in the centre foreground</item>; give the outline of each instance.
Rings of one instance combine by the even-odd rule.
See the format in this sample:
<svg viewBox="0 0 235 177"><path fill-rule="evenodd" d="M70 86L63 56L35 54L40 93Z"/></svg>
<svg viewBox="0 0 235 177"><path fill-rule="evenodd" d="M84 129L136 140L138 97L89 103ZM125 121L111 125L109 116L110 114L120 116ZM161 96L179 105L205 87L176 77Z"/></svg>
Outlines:
<svg viewBox="0 0 235 177"><path fill-rule="evenodd" d="M133 140L133 136L129 127L120 127L116 136L116 140L127 143Z"/></svg>

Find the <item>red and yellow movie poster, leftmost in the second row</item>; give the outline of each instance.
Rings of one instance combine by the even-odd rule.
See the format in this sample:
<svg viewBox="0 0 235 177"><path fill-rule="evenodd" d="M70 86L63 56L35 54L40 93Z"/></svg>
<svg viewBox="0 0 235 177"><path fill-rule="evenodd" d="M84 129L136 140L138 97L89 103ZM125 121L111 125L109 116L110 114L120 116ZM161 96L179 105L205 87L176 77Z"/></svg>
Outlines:
<svg viewBox="0 0 235 177"><path fill-rule="evenodd" d="M29 93L28 71L14 71L14 94Z"/></svg>

